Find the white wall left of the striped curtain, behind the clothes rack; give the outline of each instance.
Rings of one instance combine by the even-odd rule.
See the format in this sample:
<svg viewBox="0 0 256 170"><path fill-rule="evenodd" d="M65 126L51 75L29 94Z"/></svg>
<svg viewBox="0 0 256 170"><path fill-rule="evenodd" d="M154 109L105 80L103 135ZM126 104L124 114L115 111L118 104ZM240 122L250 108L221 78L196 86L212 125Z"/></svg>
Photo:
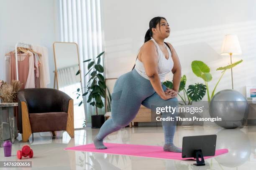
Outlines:
<svg viewBox="0 0 256 170"><path fill-rule="evenodd" d="M49 50L53 87L56 0L0 0L0 80L5 80L4 54L14 50L16 42L38 44Z"/></svg>

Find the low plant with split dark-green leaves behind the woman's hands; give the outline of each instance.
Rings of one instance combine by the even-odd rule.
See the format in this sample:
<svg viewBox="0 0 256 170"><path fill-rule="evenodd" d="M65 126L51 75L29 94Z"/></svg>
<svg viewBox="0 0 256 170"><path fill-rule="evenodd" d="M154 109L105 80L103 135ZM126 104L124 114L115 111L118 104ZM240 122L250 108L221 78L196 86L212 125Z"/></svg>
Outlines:
<svg viewBox="0 0 256 170"><path fill-rule="evenodd" d="M183 92L183 97L182 95L179 95L179 97L182 99L183 103L179 103L181 105L192 105L192 102L198 102L201 101L202 98L205 96L206 92L206 85L195 83L195 85L189 85L187 90L185 89L187 82L187 77L186 75L183 75L180 84L179 84L179 93ZM163 83L166 87L172 89L173 88L173 82L171 81L165 81ZM187 97L187 98L186 98Z"/></svg>

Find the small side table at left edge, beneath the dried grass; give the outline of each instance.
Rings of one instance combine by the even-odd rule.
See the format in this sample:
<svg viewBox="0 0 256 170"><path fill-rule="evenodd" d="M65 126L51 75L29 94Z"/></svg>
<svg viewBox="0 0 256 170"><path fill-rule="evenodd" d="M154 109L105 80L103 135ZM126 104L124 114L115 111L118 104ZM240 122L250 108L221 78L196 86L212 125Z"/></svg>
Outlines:
<svg viewBox="0 0 256 170"><path fill-rule="evenodd" d="M13 107L18 103L0 103L0 147L3 147L3 110L8 109L11 143L14 143Z"/></svg>

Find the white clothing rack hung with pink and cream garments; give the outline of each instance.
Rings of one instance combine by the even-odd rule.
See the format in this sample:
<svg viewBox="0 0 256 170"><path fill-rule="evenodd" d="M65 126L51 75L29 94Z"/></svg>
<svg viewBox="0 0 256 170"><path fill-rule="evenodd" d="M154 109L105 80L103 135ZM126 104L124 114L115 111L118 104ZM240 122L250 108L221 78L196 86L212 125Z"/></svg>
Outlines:
<svg viewBox="0 0 256 170"><path fill-rule="evenodd" d="M44 46L19 41L11 48L8 53L5 53L5 70L6 76L10 79L9 82L19 80L25 86L24 88L47 88L50 84L48 49ZM10 60L11 58L13 60ZM20 62L25 59L26 62ZM27 77L23 76L25 73L28 74Z"/></svg>

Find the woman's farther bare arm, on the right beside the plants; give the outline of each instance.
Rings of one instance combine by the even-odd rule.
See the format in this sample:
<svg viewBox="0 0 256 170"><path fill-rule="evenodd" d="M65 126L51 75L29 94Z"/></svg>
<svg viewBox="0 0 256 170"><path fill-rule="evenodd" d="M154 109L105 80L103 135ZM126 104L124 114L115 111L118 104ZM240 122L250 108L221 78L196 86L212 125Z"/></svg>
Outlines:
<svg viewBox="0 0 256 170"><path fill-rule="evenodd" d="M169 47L172 50L172 60L174 62L174 66L172 68L172 73L173 73L173 90L175 90L176 92L179 92L179 84L180 84L180 79L181 79L181 65L179 62L179 57L177 55L177 52L174 50L174 47L167 42Z"/></svg>

